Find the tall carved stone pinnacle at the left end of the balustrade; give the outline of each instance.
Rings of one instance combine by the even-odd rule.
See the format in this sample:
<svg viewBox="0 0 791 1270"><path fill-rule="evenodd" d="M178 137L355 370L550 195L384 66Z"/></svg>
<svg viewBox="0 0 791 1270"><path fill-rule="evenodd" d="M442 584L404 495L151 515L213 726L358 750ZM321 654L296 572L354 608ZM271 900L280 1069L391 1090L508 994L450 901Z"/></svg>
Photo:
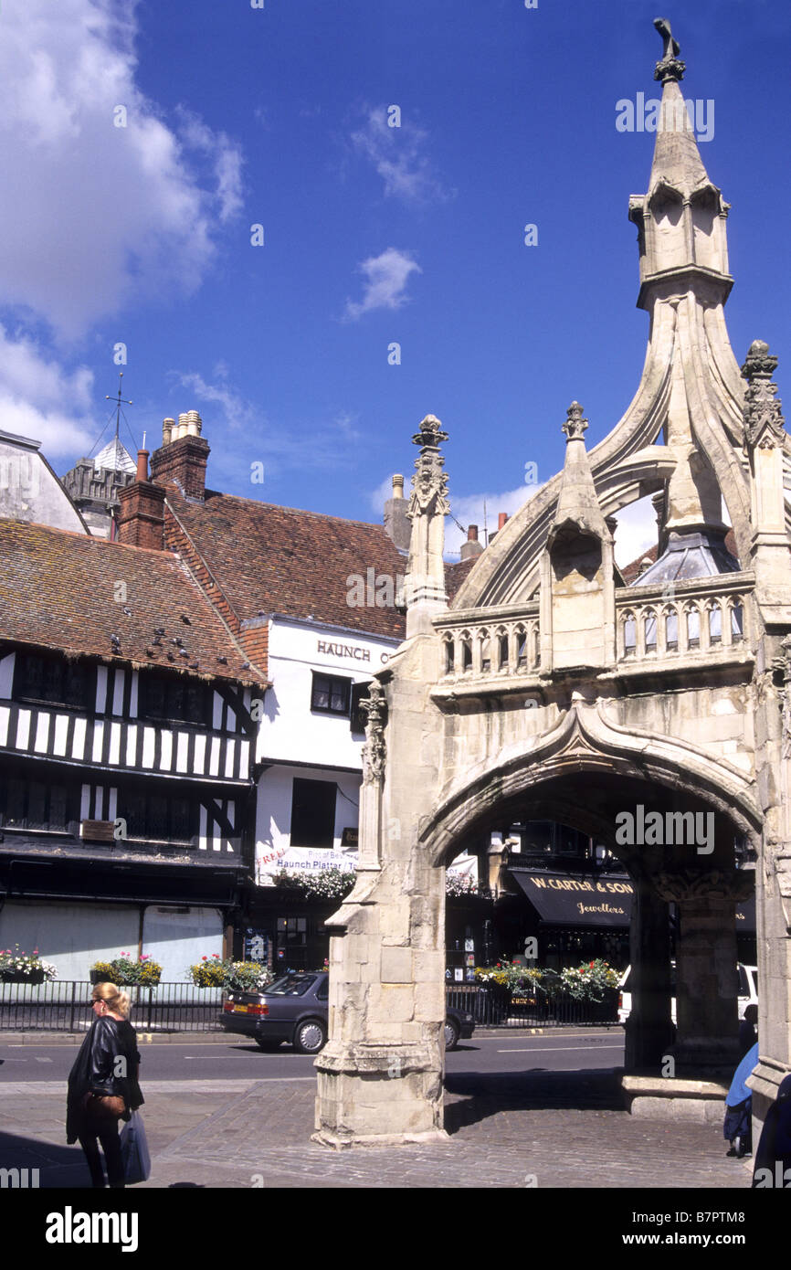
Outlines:
<svg viewBox="0 0 791 1270"><path fill-rule="evenodd" d="M447 432L433 414L427 414L419 432L411 438L420 446L411 479L411 497L406 512L411 521L409 564L404 579L406 601L406 638L433 630L430 617L447 608L444 589L444 517L451 511L448 503L448 478L439 444L448 439Z"/></svg>

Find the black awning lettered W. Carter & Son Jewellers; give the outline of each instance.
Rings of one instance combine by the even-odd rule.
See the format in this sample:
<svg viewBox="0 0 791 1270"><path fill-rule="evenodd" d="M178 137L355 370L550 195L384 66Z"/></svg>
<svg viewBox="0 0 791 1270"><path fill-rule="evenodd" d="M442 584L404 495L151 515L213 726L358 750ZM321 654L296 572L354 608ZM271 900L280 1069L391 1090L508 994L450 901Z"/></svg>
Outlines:
<svg viewBox="0 0 791 1270"><path fill-rule="evenodd" d="M548 926L628 926L632 885L626 878L582 878L509 869Z"/></svg>

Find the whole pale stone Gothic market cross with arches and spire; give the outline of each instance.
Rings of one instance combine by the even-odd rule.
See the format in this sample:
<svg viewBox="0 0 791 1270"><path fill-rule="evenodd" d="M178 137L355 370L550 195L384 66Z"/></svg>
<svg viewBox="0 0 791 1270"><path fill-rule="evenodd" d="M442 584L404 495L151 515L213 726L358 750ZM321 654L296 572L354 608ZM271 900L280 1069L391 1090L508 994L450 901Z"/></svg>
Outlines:
<svg viewBox="0 0 791 1270"><path fill-rule="evenodd" d="M678 109L683 70L658 64L649 189L630 201L651 319L637 392L590 455L571 404L562 471L480 549L451 606L446 433L428 415L413 438L406 640L371 690L357 883L328 923L320 1142L442 1135L443 864L488 808L531 789L568 803L573 777L599 799L604 829L618 799L628 809L642 795L717 818L707 857L646 847L627 861L645 972L628 1062L654 1062L667 1043L668 984L649 954L669 899L682 913L679 1054L693 1071L735 1055L740 832L757 853L759 1120L791 1072L791 441L777 358L757 340L739 370L730 348L728 204ZM613 513L648 494L658 559L626 585Z"/></svg>

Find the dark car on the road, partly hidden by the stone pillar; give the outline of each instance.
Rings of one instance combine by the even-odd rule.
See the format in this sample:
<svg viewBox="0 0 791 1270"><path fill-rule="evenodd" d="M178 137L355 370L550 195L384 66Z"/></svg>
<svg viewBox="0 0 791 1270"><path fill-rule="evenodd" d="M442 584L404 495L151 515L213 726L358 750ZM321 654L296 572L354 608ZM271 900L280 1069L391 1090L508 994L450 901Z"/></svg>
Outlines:
<svg viewBox="0 0 791 1270"><path fill-rule="evenodd" d="M250 1036L264 1050L288 1041L298 1054L317 1054L326 1044L329 994L326 970L289 970L263 992L231 992L220 1022L229 1033ZM444 1048L456 1049L460 1039L469 1040L474 1030L471 1013L448 1007Z"/></svg>

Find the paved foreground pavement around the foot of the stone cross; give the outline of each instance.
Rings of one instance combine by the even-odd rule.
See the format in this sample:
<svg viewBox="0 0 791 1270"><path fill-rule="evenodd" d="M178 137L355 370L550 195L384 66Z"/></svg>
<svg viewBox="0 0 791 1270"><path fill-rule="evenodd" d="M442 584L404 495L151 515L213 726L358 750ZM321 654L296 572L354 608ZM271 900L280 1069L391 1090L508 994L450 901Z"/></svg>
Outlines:
<svg viewBox="0 0 791 1270"><path fill-rule="evenodd" d="M750 1162L725 1157L719 1126L632 1119L616 1109L611 1073L584 1082L569 1073L457 1076L448 1087L447 1142L335 1152L310 1142L312 1076L150 1081L143 1115L154 1167L143 1186L750 1185ZM65 1144L63 1102L61 1082L0 1085L0 1167L39 1168L43 1187L88 1185L80 1149Z"/></svg>

